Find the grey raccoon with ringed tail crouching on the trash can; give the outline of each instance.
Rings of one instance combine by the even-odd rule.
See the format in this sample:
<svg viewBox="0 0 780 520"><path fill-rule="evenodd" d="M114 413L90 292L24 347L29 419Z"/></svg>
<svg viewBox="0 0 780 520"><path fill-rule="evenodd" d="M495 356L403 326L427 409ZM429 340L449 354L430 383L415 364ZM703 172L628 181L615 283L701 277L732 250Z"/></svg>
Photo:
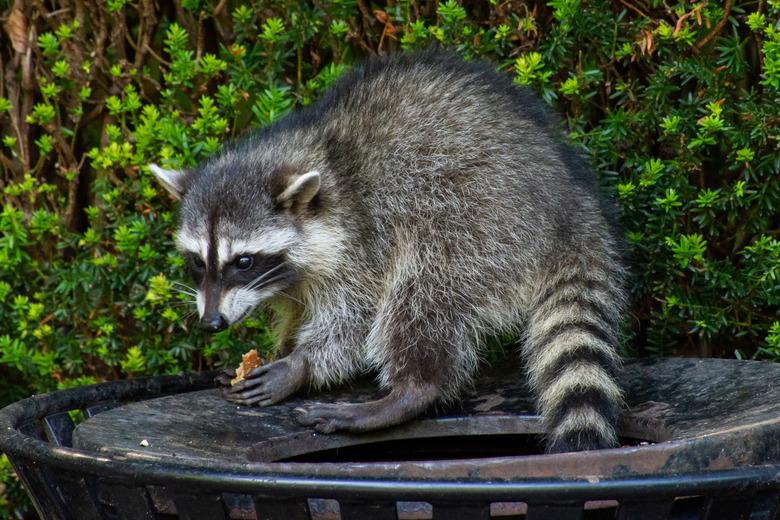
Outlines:
<svg viewBox="0 0 780 520"><path fill-rule="evenodd" d="M258 305L279 359L227 390L269 406L372 371L387 394L298 421L362 432L457 399L484 340L522 337L549 452L614 447L625 308L610 204L558 121L480 62L372 59L188 171L178 248L203 328Z"/></svg>

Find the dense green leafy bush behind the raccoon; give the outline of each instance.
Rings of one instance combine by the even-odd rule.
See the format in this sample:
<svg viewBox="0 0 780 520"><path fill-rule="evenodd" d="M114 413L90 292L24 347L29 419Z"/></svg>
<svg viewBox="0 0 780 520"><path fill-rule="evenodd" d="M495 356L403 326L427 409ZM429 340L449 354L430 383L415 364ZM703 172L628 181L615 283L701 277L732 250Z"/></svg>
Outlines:
<svg viewBox="0 0 780 520"><path fill-rule="evenodd" d="M154 4L0 0L0 404L268 351L261 317L192 331L146 165L192 166L363 56L430 45L537 90L615 194L633 352L780 357L778 0ZM21 516L0 459L4 486Z"/></svg>

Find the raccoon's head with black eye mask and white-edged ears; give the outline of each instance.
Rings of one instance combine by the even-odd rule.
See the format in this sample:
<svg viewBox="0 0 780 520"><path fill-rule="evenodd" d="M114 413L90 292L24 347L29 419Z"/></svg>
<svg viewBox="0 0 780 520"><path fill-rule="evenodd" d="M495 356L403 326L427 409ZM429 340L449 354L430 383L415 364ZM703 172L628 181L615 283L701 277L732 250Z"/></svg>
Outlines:
<svg viewBox="0 0 780 520"><path fill-rule="evenodd" d="M205 330L241 321L306 270L311 230L302 219L316 222L319 172L283 167L242 174L220 161L187 172L149 169L181 199L176 245L197 284Z"/></svg>

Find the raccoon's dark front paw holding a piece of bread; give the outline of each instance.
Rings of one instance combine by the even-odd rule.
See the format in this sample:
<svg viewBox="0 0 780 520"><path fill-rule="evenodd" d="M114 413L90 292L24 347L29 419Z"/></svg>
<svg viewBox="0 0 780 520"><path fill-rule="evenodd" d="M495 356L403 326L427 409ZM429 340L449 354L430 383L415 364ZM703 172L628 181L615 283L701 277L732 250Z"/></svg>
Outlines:
<svg viewBox="0 0 780 520"><path fill-rule="evenodd" d="M270 406L295 393L306 379L302 359L286 357L257 367L246 378L227 388L225 399L244 406Z"/></svg>

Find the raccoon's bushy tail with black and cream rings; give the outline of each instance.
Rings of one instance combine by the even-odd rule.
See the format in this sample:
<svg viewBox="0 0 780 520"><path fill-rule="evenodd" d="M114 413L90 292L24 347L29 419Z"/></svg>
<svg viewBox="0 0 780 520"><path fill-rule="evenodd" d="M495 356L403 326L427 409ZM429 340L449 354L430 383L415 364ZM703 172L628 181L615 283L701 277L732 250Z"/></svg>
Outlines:
<svg viewBox="0 0 780 520"><path fill-rule="evenodd" d="M580 258L549 272L538 284L523 349L547 450L615 447L622 270Z"/></svg>

